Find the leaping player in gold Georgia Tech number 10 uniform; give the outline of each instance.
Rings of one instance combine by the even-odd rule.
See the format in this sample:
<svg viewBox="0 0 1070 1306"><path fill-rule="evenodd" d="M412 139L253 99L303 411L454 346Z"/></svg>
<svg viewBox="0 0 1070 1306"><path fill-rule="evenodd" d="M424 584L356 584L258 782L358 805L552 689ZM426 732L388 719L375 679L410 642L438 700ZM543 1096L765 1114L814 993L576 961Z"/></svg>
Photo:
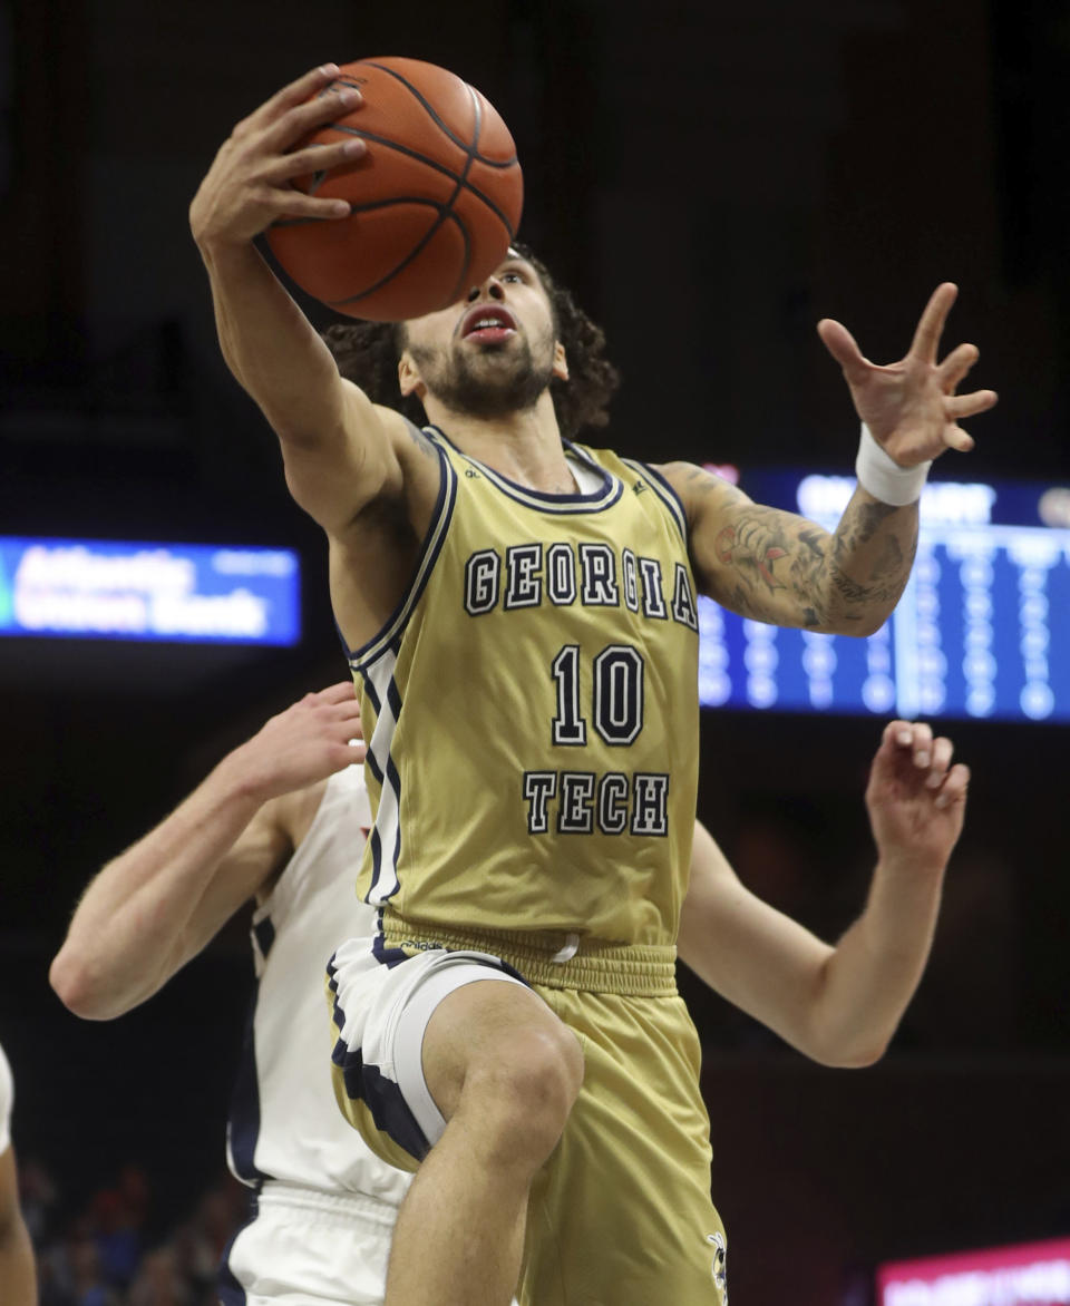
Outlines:
<svg viewBox="0 0 1070 1306"><path fill-rule="evenodd" d="M553 283L511 252L398 329L421 431L341 377L253 246L274 221L348 213L290 185L370 148L299 145L359 104L329 89L336 73L235 128L191 226L223 354L328 535L362 696L375 824L359 892L380 922L332 963L333 1060L370 1145L419 1168L387 1302L503 1306L519 1269L524 1306L722 1302L673 970L695 590L767 622L875 631L909 573L929 462L971 448L958 423L996 396L955 393L973 346L937 360L952 286L891 367L822 323L864 422L860 485L830 534L699 468L571 444L554 390L589 377L571 374Z"/></svg>

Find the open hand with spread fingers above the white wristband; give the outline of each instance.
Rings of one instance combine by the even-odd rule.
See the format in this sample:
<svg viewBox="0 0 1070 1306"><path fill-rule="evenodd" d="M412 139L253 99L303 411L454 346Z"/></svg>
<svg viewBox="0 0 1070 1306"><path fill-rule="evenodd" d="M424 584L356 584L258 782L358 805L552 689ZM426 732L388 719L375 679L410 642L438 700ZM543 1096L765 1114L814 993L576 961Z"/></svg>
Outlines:
<svg viewBox="0 0 1070 1306"><path fill-rule="evenodd" d="M977 362L976 345L959 345L937 362L941 334L955 303L958 287L937 286L917 324L909 353L898 363L878 367L862 355L854 337L830 317L818 323L818 334L843 367L858 417L900 466L912 468L938 457L945 449L967 453L973 439L959 426L963 418L996 404L994 390L955 390Z"/></svg>

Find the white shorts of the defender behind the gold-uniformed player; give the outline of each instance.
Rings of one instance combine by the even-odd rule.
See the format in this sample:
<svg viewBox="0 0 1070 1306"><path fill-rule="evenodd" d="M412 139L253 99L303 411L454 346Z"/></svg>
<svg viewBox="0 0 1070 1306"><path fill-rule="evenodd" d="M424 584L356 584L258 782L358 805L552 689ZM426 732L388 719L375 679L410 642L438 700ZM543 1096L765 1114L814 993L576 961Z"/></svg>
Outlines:
<svg viewBox="0 0 1070 1306"><path fill-rule="evenodd" d="M397 1207L269 1181L223 1252L223 1306L383 1306Z"/></svg>

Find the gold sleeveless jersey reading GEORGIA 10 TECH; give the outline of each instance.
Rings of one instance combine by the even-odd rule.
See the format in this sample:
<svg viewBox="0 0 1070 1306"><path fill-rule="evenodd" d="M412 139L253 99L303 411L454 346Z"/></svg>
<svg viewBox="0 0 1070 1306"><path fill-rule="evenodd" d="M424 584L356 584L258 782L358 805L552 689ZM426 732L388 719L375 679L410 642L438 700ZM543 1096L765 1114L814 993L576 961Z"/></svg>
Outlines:
<svg viewBox="0 0 1070 1306"><path fill-rule="evenodd" d="M698 777L682 505L605 449L570 445L601 485L551 495L427 434L415 576L350 654L375 812L358 893L427 926L674 943Z"/></svg>

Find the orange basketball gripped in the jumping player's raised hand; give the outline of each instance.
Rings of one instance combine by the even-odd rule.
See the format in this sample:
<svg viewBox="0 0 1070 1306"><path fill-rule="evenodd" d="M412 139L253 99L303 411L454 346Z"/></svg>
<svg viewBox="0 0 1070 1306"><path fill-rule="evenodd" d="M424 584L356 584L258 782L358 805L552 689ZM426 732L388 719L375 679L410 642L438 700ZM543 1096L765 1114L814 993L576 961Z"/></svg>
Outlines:
<svg viewBox="0 0 1070 1306"><path fill-rule="evenodd" d="M342 64L319 94L338 82L363 103L302 148L350 133L367 153L297 184L353 212L277 222L272 253L302 290L350 317L401 321L456 303L506 257L520 223L524 182L508 128L478 90L417 59Z"/></svg>

